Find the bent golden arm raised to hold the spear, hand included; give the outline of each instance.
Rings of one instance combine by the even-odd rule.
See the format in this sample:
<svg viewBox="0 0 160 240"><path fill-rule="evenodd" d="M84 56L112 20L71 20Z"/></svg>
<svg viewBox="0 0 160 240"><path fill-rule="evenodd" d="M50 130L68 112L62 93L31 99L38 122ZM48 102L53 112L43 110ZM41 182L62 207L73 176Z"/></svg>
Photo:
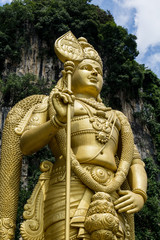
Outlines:
<svg viewBox="0 0 160 240"><path fill-rule="evenodd" d="M67 105L73 106L74 96L71 91L56 92L53 95L53 105L55 116L48 120L47 112L33 113L30 119L31 127L27 126L26 131L21 136L20 147L24 155L32 154L45 145L56 135L60 128L66 125ZM72 114L73 115L73 114ZM38 119L39 124L34 123Z"/></svg>

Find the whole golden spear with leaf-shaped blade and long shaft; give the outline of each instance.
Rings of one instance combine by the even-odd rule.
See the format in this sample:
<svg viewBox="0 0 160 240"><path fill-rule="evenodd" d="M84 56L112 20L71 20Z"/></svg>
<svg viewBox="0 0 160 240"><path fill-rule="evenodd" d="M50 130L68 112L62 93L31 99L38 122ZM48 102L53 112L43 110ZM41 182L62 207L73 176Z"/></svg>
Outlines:
<svg viewBox="0 0 160 240"><path fill-rule="evenodd" d="M71 91L71 78L74 70L74 62L83 59L82 48L72 34L67 32L55 42L55 52L58 58L64 62L67 75L67 88ZM65 211L65 240L70 237L70 182L71 182L71 105L67 107L67 147L66 147L66 211Z"/></svg>

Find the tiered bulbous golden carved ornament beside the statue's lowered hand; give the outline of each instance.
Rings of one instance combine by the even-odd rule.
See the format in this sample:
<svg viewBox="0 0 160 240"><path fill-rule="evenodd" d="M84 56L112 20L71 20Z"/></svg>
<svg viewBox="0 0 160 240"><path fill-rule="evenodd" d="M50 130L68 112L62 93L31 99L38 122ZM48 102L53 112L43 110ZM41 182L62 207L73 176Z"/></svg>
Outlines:
<svg viewBox="0 0 160 240"><path fill-rule="evenodd" d="M92 240L116 239L119 219L109 194L98 192L93 195L85 220L85 229L91 234Z"/></svg>

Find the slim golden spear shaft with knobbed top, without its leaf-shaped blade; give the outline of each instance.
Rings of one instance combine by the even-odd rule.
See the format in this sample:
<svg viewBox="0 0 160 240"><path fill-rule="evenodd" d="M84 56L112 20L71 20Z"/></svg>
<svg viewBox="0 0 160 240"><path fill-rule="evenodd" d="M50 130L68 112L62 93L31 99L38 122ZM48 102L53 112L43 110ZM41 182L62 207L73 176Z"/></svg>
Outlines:
<svg viewBox="0 0 160 240"><path fill-rule="evenodd" d="M74 69L72 61L64 63L67 73L67 88L71 91L71 78ZM71 104L67 106L67 146L66 146L66 215L65 215L65 240L69 240L70 235L70 186L71 186Z"/></svg>

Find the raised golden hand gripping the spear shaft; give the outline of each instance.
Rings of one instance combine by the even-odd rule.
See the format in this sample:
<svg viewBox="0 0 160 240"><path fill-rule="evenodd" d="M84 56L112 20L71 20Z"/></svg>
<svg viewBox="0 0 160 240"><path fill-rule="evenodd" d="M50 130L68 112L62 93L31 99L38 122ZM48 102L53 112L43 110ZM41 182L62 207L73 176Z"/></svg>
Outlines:
<svg viewBox="0 0 160 240"><path fill-rule="evenodd" d="M58 120L62 123L67 122L67 105L71 104L71 117L73 117L73 104L74 104L75 97L72 91L68 89L57 92L53 94L52 102L53 106L56 110L56 116Z"/></svg>

